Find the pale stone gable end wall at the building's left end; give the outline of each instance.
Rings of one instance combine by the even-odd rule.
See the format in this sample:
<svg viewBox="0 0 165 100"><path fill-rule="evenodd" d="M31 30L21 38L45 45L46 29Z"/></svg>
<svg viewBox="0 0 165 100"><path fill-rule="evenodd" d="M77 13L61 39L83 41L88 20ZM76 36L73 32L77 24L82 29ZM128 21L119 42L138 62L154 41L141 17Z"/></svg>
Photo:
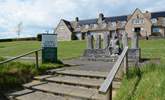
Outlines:
<svg viewBox="0 0 165 100"><path fill-rule="evenodd" d="M58 41L70 41L72 32L68 29L63 20L58 24L55 33L57 34Z"/></svg>

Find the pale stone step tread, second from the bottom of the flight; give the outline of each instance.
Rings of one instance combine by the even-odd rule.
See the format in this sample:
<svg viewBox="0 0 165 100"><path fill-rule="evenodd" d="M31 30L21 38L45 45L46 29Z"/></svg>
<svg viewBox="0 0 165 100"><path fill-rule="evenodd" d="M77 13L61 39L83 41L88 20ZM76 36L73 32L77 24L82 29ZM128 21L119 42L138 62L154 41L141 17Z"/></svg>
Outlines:
<svg viewBox="0 0 165 100"><path fill-rule="evenodd" d="M32 89L53 93L58 95L65 95L71 97L80 97L84 99L98 99L104 100L105 96L98 93L96 89L87 89L76 86L61 85L56 83L47 83L33 86Z"/></svg>

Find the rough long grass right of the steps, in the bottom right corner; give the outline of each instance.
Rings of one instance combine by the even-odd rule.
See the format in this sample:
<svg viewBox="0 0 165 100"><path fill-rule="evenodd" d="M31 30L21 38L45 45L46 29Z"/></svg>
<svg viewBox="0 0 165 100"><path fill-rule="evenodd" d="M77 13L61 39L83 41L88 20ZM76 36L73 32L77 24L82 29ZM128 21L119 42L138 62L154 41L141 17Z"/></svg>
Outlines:
<svg viewBox="0 0 165 100"><path fill-rule="evenodd" d="M132 68L114 100L165 100L165 64Z"/></svg>

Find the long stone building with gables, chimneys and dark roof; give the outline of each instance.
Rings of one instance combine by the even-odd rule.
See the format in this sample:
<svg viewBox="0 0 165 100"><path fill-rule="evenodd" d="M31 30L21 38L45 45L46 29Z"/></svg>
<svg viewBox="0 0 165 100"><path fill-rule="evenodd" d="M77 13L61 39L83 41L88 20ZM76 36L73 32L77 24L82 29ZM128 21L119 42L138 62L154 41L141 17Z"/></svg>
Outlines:
<svg viewBox="0 0 165 100"><path fill-rule="evenodd" d="M140 36L146 37L151 35L165 36L165 11L161 12L142 12L136 9L130 15L104 17L101 13L98 18L66 21L61 19L54 30L58 34L58 40L69 41L72 39L85 39L87 34L92 34L94 37L97 34L102 35L123 32L128 33L131 37L133 32L140 32Z"/></svg>

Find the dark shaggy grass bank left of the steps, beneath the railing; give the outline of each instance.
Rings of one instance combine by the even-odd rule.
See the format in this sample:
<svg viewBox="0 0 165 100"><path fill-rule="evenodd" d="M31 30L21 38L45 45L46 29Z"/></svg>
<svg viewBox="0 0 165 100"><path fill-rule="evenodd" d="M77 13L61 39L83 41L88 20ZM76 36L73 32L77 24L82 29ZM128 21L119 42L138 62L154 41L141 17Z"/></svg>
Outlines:
<svg viewBox="0 0 165 100"><path fill-rule="evenodd" d="M0 58L0 60L4 60ZM11 62L0 65L0 90L9 90L21 87L22 84L31 81L32 77L45 73L48 69L62 67L62 64L42 64L35 69L35 64Z"/></svg>

